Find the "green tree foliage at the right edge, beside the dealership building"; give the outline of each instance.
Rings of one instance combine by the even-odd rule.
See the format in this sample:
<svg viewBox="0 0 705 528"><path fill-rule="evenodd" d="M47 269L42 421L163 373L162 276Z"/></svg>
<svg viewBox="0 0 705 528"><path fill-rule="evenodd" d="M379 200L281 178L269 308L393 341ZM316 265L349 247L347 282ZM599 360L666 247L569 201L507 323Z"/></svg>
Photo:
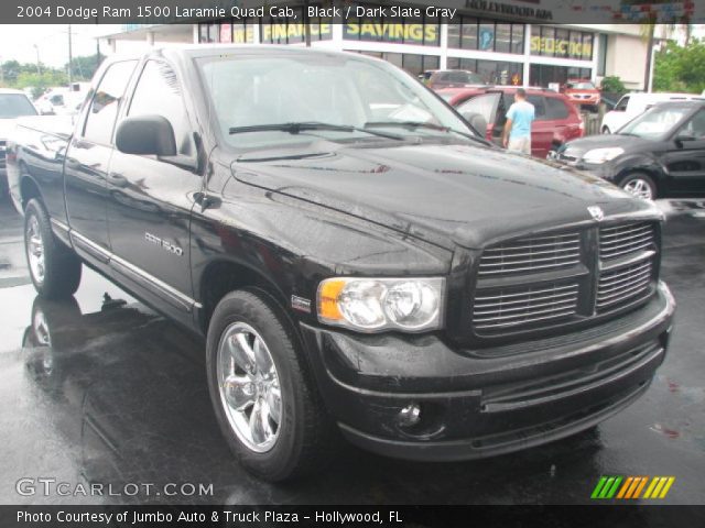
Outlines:
<svg viewBox="0 0 705 528"><path fill-rule="evenodd" d="M693 38L687 46L669 42L657 53L654 91L701 94L705 89L705 42Z"/></svg>

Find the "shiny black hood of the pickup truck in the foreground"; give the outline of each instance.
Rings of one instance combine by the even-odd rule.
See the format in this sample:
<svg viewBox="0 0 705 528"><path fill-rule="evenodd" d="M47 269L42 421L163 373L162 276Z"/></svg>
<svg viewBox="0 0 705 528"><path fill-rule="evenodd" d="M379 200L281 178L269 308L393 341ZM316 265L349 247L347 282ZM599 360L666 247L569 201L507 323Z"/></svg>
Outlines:
<svg viewBox="0 0 705 528"><path fill-rule="evenodd" d="M594 222L589 206L600 206L606 217L658 215L653 206L599 178L494 147L352 147L321 141L306 152L280 150L275 157L249 153L231 169L246 184L447 249L481 248L508 235Z"/></svg>

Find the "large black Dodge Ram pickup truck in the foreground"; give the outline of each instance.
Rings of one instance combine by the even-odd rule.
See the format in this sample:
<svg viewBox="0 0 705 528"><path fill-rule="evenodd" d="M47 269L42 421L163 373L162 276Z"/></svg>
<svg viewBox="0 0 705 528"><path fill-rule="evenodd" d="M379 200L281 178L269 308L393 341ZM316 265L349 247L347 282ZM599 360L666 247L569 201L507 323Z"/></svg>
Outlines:
<svg viewBox="0 0 705 528"><path fill-rule="evenodd" d="M340 432L436 461L560 439L665 355L654 206L487 144L381 61L112 58L73 131L28 118L8 163L40 294L86 264L205 336L223 432L269 480Z"/></svg>

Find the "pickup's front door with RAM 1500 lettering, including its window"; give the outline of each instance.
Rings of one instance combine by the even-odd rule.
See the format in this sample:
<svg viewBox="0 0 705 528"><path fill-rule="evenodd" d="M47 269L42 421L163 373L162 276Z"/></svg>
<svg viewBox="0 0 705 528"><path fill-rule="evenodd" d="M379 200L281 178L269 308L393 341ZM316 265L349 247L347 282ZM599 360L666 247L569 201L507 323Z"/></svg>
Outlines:
<svg viewBox="0 0 705 528"><path fill-rule="evenodd" d="M182 84L175 68L162 59L149 59L139 72L123 117L139 116L169 120L177 155L166 160L116 148L108 175L111 267L145 300L188 321L191 211L202 177Z"/></svg>

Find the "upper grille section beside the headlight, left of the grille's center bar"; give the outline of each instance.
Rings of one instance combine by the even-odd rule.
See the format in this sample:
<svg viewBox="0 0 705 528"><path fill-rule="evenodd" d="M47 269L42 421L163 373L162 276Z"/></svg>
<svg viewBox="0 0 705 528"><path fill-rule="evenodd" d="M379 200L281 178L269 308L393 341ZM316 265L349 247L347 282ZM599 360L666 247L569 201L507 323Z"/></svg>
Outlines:
<svg viewBox="0 0 705 528"><path fill-rule="evenodd" d="M479 277L574 266L581 260L578 233L532 237L485 250Z"/></svg>

